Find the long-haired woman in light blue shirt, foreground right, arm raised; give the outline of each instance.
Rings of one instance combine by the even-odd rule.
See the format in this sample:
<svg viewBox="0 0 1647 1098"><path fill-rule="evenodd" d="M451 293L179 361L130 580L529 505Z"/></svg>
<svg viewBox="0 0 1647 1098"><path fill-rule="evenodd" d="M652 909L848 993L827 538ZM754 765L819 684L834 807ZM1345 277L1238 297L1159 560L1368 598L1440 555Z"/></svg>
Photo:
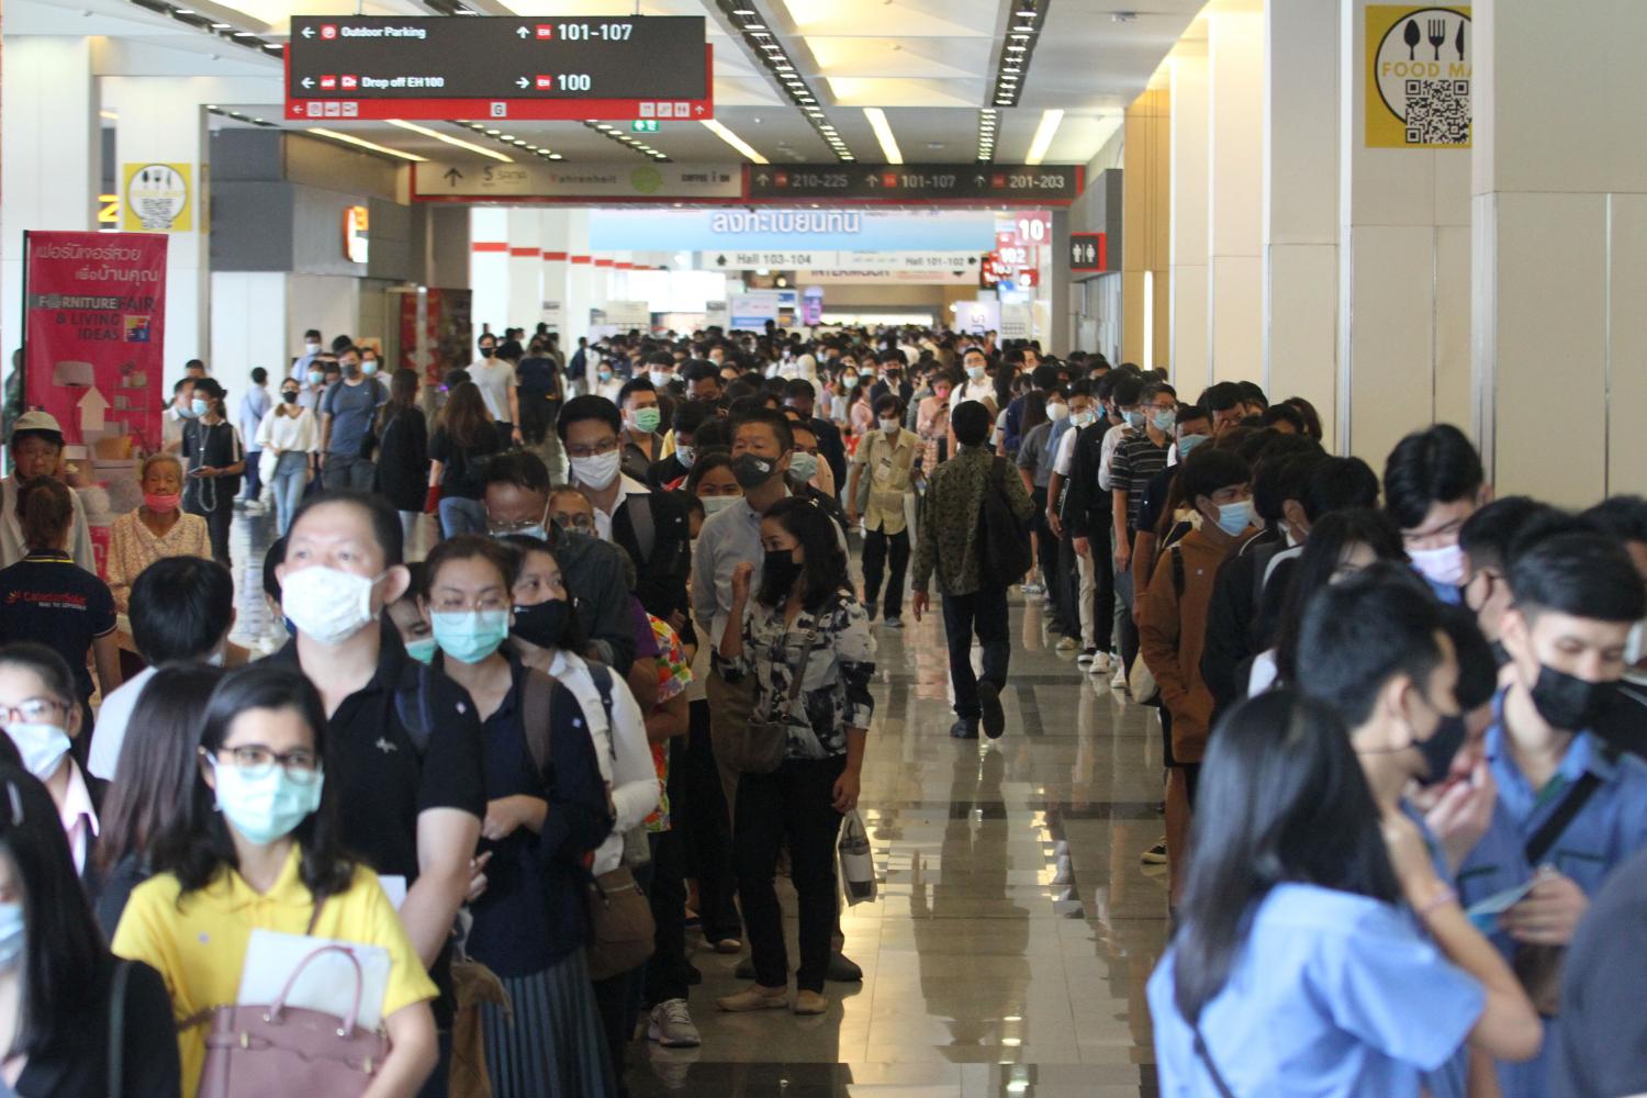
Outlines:
<svg viewBox="0 0 1647 1098"><path fill-rule="evenodd" d="M1344 723L1290 690L1211 739L1150 1014L1173 1098L1416 1096L1466 1042L1525 1058L1540 1040L1416 825L1380 817Z"/></svg>

